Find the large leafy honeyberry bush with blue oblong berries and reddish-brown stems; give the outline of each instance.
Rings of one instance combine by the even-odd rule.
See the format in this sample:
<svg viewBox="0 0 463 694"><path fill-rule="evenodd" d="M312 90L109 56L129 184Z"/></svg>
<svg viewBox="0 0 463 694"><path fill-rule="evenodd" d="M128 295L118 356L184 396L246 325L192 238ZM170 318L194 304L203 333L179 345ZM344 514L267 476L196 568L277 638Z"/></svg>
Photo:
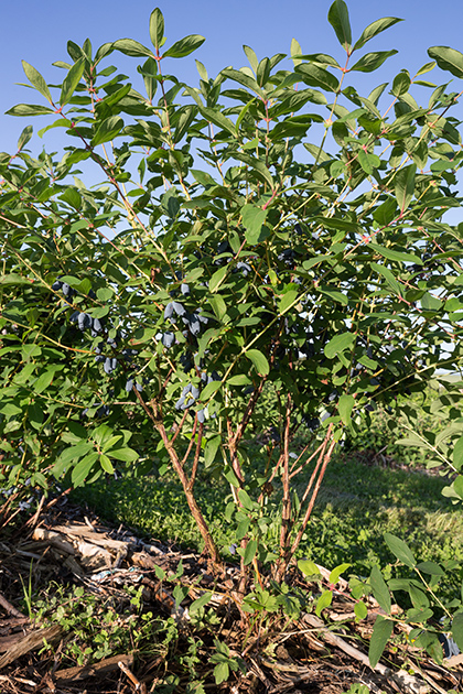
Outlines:
<svg viewBox="0 0 463 694"><path fill-rule="evenodd" d="M171 73L204 39L169 44L159 9L151 47L69 41L62 84L23 62L40 104L8 111L64 129L64 153L33 158L28 126L0 156L2 485L161 459L219 565L195 480L224 475L243 590L262 564L284 576L346 432L462 357L462 229L443 216L461 205L463 54L434 46L365 97L356 74L396 53L365 46L400 20L356 42L342 0L329 21L338 58L245 46L249 66L216 77L196 61L198 87ZM428 82L437 65L456 80Z"/></svg>

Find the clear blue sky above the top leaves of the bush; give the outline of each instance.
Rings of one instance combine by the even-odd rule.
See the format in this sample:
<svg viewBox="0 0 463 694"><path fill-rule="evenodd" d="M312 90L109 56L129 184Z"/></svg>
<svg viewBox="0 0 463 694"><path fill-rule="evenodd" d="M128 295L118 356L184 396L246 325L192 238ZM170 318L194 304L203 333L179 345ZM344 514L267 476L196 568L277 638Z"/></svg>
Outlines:
<svg viewBox="0 0 463 694"><path fill-rule="evenodd" d="M192 56L180 61L170 58L164 71L172 69L189 84L196 85L195 57L205 64L209 75L215 76L227 65L241 67L247 64L243 44L250 45L261 58L278 52L289 53L292 37L300 42L303 52L330 53L341 63L344 53L326 19L330 6L331 0L159 0L165 18L166 45L192 33L206 37ZM406 20L367 44L368 51L397 48L399 53L372 75L352 74L351 84L364 95L374 86L394 78L401 68L413 74L430 59L427 55L430 45L450 45L463 51L463 3L455 0L432 3L430 0L351 0L347 6L354 40L367 24L380 17ZM0 151L13 151L18 135L26 124L32 123L35 132L46 124L43 117L24 119L3 115L14 104L44 102L37 93L14 84L26 82L21 59L31 63L46 82L53 83L64 77L63 71L53 67L52 63L67 59L69 39L82 45L88 36L95 50L121 37L136 39L150 46L148 24L154 7L152 0L3 0L0 9ZM136 58L115 53L106 64L116 64L133 76L134 86L142 90L141 76L134 69ZM429 79L438 84L450 77L438 69L429 75ZM459 80L455 83L455 87L462 88ZM56 130L45 134L43 142L47 150L53 148L54 138ZM30 147L37 151L41 145L42 141L34 135Z"/></svg>

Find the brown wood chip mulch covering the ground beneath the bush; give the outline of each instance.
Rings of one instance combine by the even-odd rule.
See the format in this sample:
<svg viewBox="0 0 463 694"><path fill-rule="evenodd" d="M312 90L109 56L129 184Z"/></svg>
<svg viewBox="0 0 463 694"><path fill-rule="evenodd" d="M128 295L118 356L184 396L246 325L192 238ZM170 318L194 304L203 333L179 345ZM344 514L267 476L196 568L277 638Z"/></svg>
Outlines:
<svg viewBox="0 0 463 694"><path fill-rule="evenodd" d="M463 655L438 665L406 643L406 633L399 629L394 646L373 670L368 641L380 608L370 599L368 617L356 619L355 600L343 579L323 618L310 609L297 621L270 615L244 641L246 625L233 599L239 581L236 565L227 565L222 577L214 577L206 557L142 540L122 527L105 525L65 496L42 505L22 525L17 521L13 528L7 524L0 530L0 694L343 694L352 684L364 684L374 694L446 694L463 687ZM179 571L180 565L183 571ZM329 572L320 568L327 576ZM163 581L160 570L165 572ZM320 590L298 574L294 571L291 576L294 586L308 593ZM176 605L174 589L179 585L186 597ZM46 594L50 599L54 592L63 596L58 586L67 594L83 588L82 604L85 596L91 596L101 632L103 616L110 605L119 615L122 631L129 633L129 622L140 618L141 610L147 620L165 622L171 617L176 639L170 644L164 638L152 648L142 643L139 649L95 658L95 643L84 643L85 636L69 630L65 621L50 615L37 621L35 601L32 614L26 614L29 597ZM137 590L142 593L138 612L130 603ZM205 592L212 593L207 610L216 615L215 623L208 629L193 628L189 607ZM77 609L79 604L73 605ZM66 601L62 607L65 611ZM55 611L58 608L56 604ZM225 641L230 657L241 662L241 668L220 684L215 683L215 665L209 662L216 653L215 639ZM90 647L80 662L69 654L73 640L83 649ZM189 674L187 662L192 641L197 643L195 664L190 665L195 669L194 676L193 670Z"/></svg>

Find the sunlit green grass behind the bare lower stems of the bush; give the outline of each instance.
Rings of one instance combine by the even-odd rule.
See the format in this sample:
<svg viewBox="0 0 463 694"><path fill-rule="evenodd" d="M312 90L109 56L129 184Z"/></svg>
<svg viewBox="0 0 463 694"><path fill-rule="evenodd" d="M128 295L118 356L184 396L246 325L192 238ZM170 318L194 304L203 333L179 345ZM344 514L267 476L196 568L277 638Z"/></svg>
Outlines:
<svg viewBox="0 0 463 694"><path fill-rule="evenodd" d="M419 561L442 564L456 560L463 566L463 516L459 506L441 495L446 484L439 476L420 471L367 466L355 459L333 460L298 556L329 568L348 562L354 573L367 576L375 563L394 563L383 540L384 532L390 532L403 539ZM232 498L227 499L229 487L204 477L197 480L196 494L216 543L232 560L228 546L234 536L224 519L225 502ZM278 484L274 496L278 500ZM77 490L74 498L143 535L203 549L181 485L170 474L129 474L117 480L99 480ZM273 536L278 536L276 528ZM408 575L407 568L401 572ZM446 576L443 587L449 597L460 592L462 577L461 568Z"/></svg>

